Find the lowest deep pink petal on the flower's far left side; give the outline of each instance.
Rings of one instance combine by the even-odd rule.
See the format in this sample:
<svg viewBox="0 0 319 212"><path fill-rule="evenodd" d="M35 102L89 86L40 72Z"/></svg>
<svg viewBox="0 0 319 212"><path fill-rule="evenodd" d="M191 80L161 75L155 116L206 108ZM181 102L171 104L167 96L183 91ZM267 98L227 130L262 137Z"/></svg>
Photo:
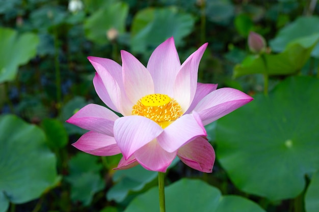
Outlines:
<svg viewBox="0 0 319 212"><path fill-rule="evenodd" d="M79 150L96 156L113 156L121 153L114 137L97 132L87 132L72 144Z"/></svg>

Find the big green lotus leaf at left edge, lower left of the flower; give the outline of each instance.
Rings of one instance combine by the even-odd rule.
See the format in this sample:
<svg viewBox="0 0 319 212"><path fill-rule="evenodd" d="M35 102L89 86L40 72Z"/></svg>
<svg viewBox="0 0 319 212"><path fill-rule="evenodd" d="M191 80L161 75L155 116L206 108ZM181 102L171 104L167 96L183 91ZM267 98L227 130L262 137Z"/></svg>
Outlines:
<svg viewBox="0 0 319 212"><path fill-rule="evenodd" d="M56 158L41 129L14 115L0 116L0 211L9 201L24 203L40 197L56 183Z"/></svg>

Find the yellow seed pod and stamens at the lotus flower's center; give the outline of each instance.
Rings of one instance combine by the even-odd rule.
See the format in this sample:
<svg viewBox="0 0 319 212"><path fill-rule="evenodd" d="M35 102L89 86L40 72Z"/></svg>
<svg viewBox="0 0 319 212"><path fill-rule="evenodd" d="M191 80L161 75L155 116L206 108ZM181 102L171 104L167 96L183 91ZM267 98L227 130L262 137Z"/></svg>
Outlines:
<svg viewBox="0 0 319 212"><path fill-rule="evenodd" d="M182 115L176 100L165 94L150 94L141 98L132 108L132 115L142 115L152 119L162 128Z"/></svg>

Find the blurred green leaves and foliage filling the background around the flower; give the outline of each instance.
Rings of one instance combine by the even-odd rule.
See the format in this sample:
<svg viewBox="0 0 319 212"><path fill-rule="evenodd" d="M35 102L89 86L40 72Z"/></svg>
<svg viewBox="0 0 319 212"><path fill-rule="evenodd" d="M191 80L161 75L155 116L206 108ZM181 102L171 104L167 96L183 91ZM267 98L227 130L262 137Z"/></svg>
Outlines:
<svg viewBox="0 0 319 212"><path fill-rule="evenodd" d="M156 173L115 171L121 156L78 153L70 144L85 130L65 120L88 103L103 105L87 56L121 63L125 49L146 65L172 36L182 61L208 42L200 82L255 100L206 127L213 173L174 162L167 208L317 211L316 3L0 0L0 212L157 210ZM265 38L265 52L249 52L251 31Z"/></svg>

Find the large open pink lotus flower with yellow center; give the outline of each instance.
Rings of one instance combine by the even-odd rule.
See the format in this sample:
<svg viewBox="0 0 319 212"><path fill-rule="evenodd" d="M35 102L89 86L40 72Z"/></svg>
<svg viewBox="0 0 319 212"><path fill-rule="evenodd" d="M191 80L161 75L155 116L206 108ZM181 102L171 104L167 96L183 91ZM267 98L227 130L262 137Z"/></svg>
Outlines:
<svg viewBox="0 0 319 212"><path fill-rule="evenodd" d="M89 130L73 145L97 156L122 154L116 169L141 164L165 172L173 159L211 172L215 152L204 126L253 99L233 88L197 82L202 45L181 65L170 38L159 45L145 68L121 51L122 67L111 59L89 56L96 70L93 84L113 111L96 104L79 110L68 123Z"/></svg>

